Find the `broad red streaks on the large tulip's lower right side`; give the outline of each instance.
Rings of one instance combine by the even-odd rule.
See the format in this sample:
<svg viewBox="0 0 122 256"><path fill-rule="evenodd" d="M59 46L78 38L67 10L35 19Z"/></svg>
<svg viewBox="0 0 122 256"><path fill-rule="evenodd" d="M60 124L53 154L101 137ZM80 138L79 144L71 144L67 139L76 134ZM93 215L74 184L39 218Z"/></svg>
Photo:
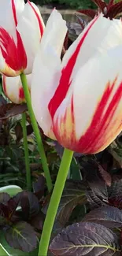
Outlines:
<svg viewBox="0 0 122 256"><path fill-rule="evenodd" d="M91 125L87 129L87 132L79 140L79 146L83 148L86 153L91 154L92 152L98 151L98 147L102 147L102 144L105 142L105 135L109 135L109 124L113 120L114 113L122 97L122 83L118 87L113 99L109 102L109 98L112 95L113 88L115 87L116 79L113 81L113 84L106 87L104 95L102 96L101 101L98 103L98 107L94 113ZM107 103L109 106L106 108ZM101 142L101 143L100 143ZM100 145L101 144L101 145ZM99 145L99 146L98 146Z"/></svg>

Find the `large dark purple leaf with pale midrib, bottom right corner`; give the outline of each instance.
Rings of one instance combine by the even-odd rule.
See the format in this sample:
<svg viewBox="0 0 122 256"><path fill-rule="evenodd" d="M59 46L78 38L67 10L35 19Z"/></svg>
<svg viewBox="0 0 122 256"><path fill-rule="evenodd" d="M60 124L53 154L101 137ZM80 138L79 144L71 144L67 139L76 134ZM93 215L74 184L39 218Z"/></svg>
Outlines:
<svg viewBox="0 0 122 256"><path fill-rule="evenodd" d="M120 256L116 234L101 224L80 222L72 224L58 234L50 244L58 256Z"/></svg>

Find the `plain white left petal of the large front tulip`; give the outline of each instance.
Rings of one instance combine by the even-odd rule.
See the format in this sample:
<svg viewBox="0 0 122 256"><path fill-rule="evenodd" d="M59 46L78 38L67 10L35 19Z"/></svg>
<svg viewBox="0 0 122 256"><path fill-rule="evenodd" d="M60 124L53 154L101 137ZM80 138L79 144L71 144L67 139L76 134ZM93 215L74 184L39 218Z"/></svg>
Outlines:
<svg viewBox="0 0 122 256"><path fill-rule="evenodd" d="M65 20L54 9L47 21L32 74L31 102L35 117L43 132L51 138L54 138L54 134L51 132L52 120L48 103L60 80L61 49L66 32Z"/></svg>

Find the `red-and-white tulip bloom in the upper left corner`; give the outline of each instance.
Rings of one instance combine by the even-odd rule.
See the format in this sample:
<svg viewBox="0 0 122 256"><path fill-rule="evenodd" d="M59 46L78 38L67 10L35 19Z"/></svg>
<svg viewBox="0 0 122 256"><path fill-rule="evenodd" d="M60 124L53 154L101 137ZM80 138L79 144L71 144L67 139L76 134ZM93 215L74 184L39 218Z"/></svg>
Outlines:
<svg viewBox="0 0 122 256"><path fill-rule="evenodd" d="M0 8L0 72L29 74L43 35L43 19L33 2L3 0Z"/></svg>

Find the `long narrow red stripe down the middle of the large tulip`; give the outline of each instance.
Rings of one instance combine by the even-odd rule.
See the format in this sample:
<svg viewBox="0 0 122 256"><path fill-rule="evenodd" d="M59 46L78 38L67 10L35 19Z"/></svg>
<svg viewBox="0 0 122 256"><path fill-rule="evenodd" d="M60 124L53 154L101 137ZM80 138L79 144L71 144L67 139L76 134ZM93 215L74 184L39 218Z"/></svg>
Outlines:
<svg viewBox="0 0 122 256"><path fill-rule="evenodd" d="M51 115L52 119L54 118L54 114L55 114L57 108L61 105L61 102L63 101L63 99L65 98L65 96L68 92L68 88L70 87L70 84L72 82L70 80L70 78L71 78L74 66L76 64L76 59L78 57L79 50L80 50L81 46L83 45L83 42L86 39L88 32L91 30L91 28L94 25L96 20L98 20L98 17L95 17L95 19L91 23L91 26L89 26L89 28L87 28L87 31L84 33L79 44L76 46L76 50L72 54L72 57L68 60L68 63L65 66L65 68L62 69L61 80L59 82L57 90L55 91L54 97L51 98L49 105L48 105L48 109L50 111L50 115Z"/></svg>

